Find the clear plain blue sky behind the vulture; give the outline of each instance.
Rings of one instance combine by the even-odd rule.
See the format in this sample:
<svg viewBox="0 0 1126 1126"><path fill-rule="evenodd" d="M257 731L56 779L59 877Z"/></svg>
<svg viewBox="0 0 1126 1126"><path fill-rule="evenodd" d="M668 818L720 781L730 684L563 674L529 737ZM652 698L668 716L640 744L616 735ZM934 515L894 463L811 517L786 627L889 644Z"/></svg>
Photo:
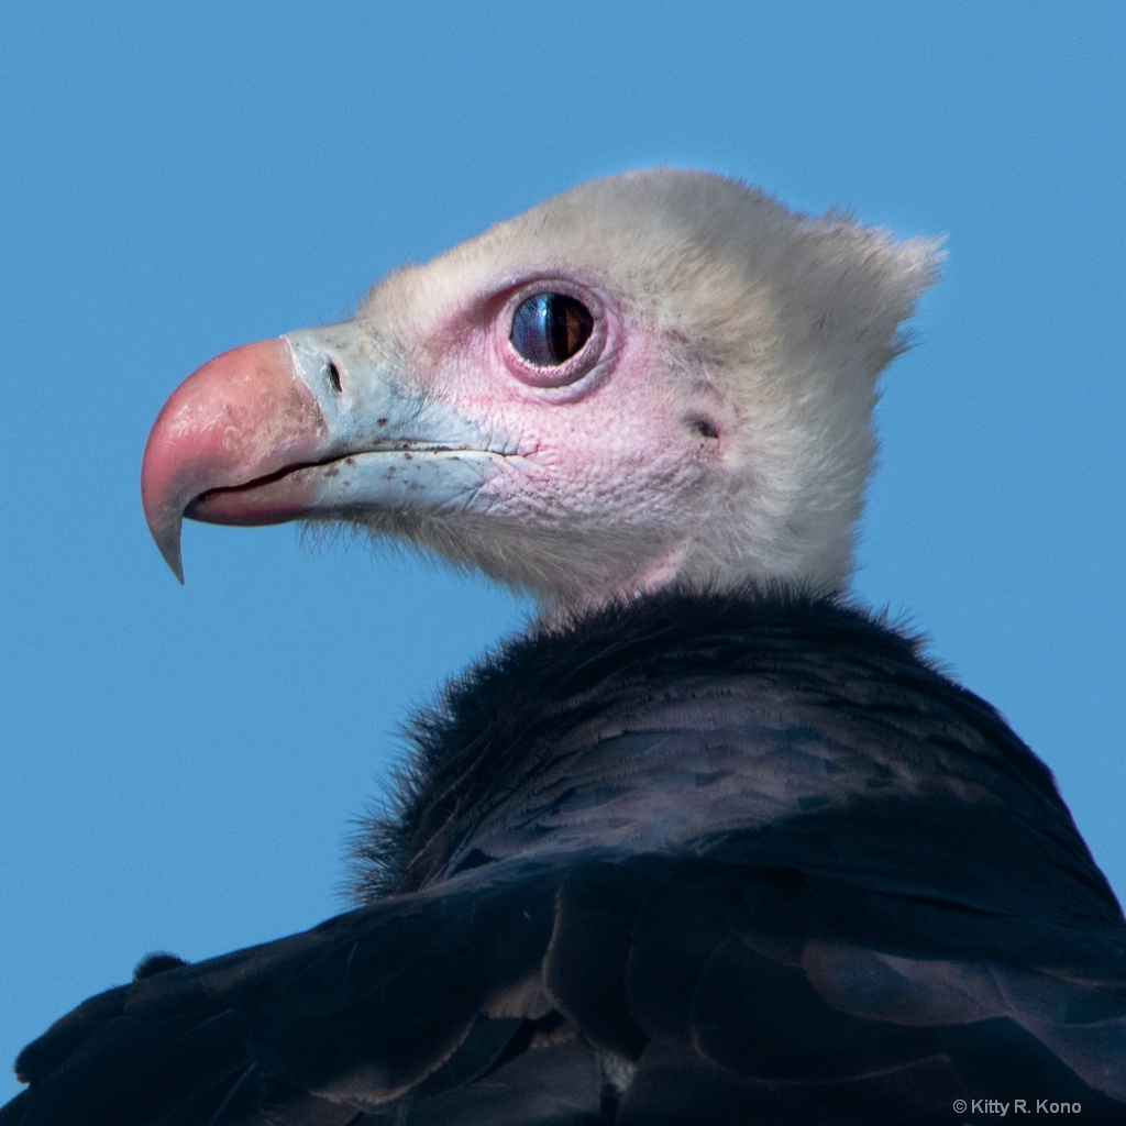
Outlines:
<svg viewBox="0 0 1126 1126"><path fill-rule="evenodd" d="M137 494L168 393L652 163L948 235L857 590L1126 892L1124 74L1109 0L0 5L0 1061L150 949L341 910L408 707L527 609L289 528L189 526L180 588Z"/></svg>

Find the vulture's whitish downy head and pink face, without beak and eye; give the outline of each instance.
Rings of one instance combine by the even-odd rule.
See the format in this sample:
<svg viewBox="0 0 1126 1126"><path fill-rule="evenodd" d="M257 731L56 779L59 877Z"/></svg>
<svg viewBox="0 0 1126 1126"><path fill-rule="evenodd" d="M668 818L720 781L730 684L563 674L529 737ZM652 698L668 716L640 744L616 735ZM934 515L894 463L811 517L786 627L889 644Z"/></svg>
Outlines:
<svg viewBox="0 0 1126 1126"><path fill-rule="evenodd" d="M391 275L361 309L394 327L385 347L431 373L430 393L527 453L493 483L489 520L367 522L564 608L673 580L843 589L876 381L939 259L935 240L703 172L548 199ZM573 282L613 314L611 370L591 388L513 392L484 370L474 386L474 333L528 277Z"/></svg>

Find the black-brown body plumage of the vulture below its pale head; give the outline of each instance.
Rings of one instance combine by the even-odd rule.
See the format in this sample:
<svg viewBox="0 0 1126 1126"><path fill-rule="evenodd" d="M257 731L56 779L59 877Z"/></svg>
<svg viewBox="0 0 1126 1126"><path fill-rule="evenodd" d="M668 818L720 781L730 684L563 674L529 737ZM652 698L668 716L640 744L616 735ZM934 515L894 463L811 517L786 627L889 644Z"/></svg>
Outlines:
<svg viewBox="0 0 1126 1126"><path fill-rule="evenodd" d="M1126 1119L1112 893L1043 763L865 614L611 606L418 741L369 905L88 1001L0 1124Z"/></svg>

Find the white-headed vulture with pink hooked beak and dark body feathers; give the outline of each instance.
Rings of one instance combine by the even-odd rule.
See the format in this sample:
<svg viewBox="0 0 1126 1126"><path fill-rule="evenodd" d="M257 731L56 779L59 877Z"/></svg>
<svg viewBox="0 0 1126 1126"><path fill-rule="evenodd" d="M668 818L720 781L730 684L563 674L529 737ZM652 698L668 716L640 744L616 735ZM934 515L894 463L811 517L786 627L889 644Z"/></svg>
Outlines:
<svg viewBox="0 0 1126 1126"><path fill-rule="evenodd" d="M356 905L144 958L0 1126L1126 1123L1126 922L1048 769L847 593L933 241L580 186L171 396L150 527L332 521L534 593L417 717Z"/></svg>

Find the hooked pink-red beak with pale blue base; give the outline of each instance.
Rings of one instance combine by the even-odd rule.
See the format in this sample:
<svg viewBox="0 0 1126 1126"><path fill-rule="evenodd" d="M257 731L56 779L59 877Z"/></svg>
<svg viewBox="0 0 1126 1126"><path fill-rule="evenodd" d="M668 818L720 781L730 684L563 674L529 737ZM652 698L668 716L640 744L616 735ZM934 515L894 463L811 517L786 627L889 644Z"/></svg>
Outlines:
<svg viewBox="0 0 1126 1126"><path fill-rule="evenodd" d="M181 582L186 516L261 525L473 506L495 434L375 352L347 321L235 348L177 387L149 436L141 495Z"/></svg>

